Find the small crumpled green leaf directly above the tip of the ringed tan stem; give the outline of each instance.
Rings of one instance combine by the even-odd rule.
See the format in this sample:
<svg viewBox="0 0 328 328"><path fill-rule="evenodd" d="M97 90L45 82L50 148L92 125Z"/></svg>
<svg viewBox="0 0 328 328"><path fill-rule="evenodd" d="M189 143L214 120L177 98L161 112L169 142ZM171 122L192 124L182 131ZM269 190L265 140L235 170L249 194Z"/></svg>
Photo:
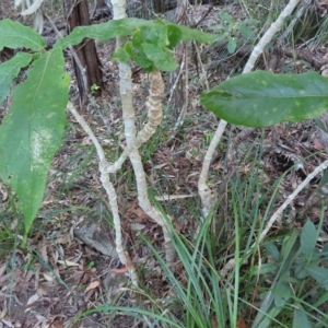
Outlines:
<svg viewBox="0 0 328 328"><path fill-rule="evenodd" d="M144 55L153 62L154 67L161 71L171 72L177 68L173 52L166 47L143 44Z"/></svg>

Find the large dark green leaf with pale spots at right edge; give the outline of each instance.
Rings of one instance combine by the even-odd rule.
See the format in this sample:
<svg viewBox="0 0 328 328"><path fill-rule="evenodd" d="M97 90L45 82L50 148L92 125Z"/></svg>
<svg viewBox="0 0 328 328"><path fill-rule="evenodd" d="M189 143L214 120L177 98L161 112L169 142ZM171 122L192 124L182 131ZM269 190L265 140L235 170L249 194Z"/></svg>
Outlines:
<svg viewBox="0 0 328 328"><path fill-rule="evenodd" d="M328 108L327 90L328 79L316 72L255 71L222 82L200 102L231 124L263 128L319 116Z"/></svg>

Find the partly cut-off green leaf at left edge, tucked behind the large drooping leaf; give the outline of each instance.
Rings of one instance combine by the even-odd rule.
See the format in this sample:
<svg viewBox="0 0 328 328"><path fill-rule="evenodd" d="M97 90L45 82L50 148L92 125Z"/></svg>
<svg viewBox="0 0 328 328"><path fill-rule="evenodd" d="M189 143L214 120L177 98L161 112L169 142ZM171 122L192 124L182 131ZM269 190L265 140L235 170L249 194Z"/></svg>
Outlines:
<svg viewBox="0 0 328 328"><path fill-rule="evenodd" d="M13 58L0 65L0 103L9 93L11 82L17 77L21 69L32 60L32 55L19 52Z"/></svg>

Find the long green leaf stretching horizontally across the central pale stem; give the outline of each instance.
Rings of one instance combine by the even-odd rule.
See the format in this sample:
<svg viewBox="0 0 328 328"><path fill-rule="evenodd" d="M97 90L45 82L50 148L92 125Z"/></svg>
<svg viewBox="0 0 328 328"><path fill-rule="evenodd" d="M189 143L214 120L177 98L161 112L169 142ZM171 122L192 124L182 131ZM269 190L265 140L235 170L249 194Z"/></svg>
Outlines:
<svg viewBox="0 0 328 328"><path fill-rule="evenodd" d="M209 43L214 39L213 35L198 30L192 30L187 26L180 26L167 22L163 23L167 27L174 26L175 28L178 28L180 31L180 40L195 39L200 43ZM59 39L57 43L60 47L67 48L69 45L80 44L84 37L106 40L119 35L132 35L133 31L136 28L140 28L141 26L145 26L147 28L151 30L156 25L159 25L157 21L147 21L141 19L112 20L102 24L75 27L71 34L69 34L67 37Z"/></svg>

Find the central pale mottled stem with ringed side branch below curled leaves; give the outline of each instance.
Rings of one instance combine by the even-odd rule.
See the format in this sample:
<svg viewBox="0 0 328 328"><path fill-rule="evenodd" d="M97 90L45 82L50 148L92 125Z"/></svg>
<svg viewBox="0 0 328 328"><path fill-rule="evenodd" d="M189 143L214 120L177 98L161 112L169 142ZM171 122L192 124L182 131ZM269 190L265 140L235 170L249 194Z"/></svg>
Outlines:
<svg viewBox="0 0 328 328"><path fill-rule="evenodd" d="M119 20L126 16L126 2L121 0L113 0L114 20ZM126 37L117 37L117 47L122 46ZM131 161L138 190L138 201L141 209L163 229L166 261L172 262L175 259L175 249L172 246L169 237L169 223L165 221L162 214L150 203L147 192L145 173L143 169L141 156L138 151L138 143L142 140L149 139L150 134L155 131L156 126L162 121L162 96L164 92L164 83L160 72L150 74L151 90L147 103L149 110L149 124L144 127L139 139L136 140L136 125L134 125L134 110L132 106L132 81L131 69L126 63L119 63L119 78L120 78L120 98L125 125L125 136L127 140L127 148L130 150L128 154ZM149 130L150 129L150 130ZM109 168L110 171L110 168Z"/></svg>

